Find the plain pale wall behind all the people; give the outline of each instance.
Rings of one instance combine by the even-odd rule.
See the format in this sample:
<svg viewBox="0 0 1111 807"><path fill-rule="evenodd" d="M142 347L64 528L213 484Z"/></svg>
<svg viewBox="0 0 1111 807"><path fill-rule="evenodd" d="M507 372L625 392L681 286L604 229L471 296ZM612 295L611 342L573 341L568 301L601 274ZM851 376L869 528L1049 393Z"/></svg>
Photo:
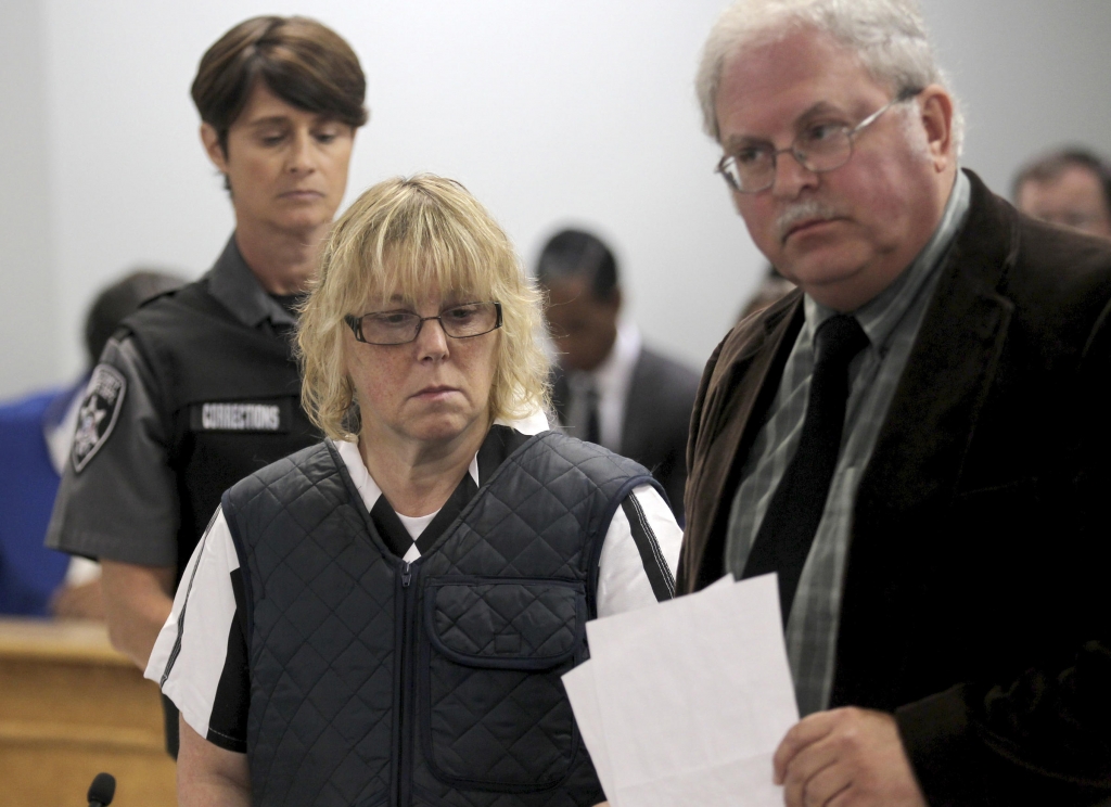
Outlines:
<svg viewBox="0 0 1111 807"><path fill-rule="evenodd" d="M965 163L1005 191L1031 152L1111 153L1105 0L922 0L964 99ZM609 238L629 315L699 364L762 261L711 173L691 81L722 0L4 0L0 395L74 376L90 296L136 264L203 271L232 226L189 84L257 13L336 28L371 121L349 199L386 176L462 180L527 263L554 228Z"/></svg>

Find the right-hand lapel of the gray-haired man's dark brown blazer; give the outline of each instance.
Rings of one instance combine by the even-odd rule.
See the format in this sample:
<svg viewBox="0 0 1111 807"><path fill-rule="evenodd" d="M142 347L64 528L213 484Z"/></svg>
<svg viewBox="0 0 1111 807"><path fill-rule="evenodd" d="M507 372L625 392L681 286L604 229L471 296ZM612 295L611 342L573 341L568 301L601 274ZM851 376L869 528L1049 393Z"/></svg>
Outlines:
<svg viewBox="0 0 1111 807"><path fill-rule="evenodd" d="M831 705L859 703L865 693L871 703L898 699L891 687L905 656L881 665L875 643L912 629L894 622L905 613L893 604L907 596L908 568L920 559L903 538L950 504L1007 342L1014 306L999 290L1015 260L1017 222L975 175L970 180L969 219L857 491Z"/></svg>

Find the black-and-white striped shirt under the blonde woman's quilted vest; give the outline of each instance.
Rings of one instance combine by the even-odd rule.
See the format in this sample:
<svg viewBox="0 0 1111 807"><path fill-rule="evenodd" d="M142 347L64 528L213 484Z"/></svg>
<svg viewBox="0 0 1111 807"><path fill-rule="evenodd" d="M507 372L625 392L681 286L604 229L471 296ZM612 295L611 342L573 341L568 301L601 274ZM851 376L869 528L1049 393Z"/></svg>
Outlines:
<svg viewBox="0 0 1111 807"><path fill-rule="evenodd" d="M504 445L507 435L510 441L519 440L546 428L542 418L496 424L449 502L437 513L417 517L393 512L356 443L338 442L337 447L383 539L411 562L500 464L503 457L488 451L492 443L500 440ZM492 465L490 456L496 457ZM634 488L613 514L602 544L598 615L632 611L671 596L681 539L682 532L657 490L651 485ZM186 611L188 619L181 618ZM217 511L184 571L146 676L159 682L193 730L240 753L246 751L250 702L244 613L239 556L223 513Z"/></svg>

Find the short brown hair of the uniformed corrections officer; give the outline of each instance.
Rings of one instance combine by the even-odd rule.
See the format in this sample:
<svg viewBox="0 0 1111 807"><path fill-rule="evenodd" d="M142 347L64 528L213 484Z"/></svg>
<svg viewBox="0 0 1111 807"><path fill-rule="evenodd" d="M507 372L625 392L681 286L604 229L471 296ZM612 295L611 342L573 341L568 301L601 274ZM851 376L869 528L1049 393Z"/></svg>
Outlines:
<svg viewBox="0 0 1111 807"><path fill-rule="evenodd" d="M228 151L228 130L257 81L287 103L358 129L367 122L367 79L342 37L306 17L253 17L201 57L192 97Z"/></svg>

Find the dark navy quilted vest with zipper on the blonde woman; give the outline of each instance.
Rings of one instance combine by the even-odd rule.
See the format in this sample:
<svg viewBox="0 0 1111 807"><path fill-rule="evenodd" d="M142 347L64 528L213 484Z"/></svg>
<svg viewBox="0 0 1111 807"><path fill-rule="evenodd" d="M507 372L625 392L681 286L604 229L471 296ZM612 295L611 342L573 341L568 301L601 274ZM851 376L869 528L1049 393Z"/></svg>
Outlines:
<svg viewBox="0 0 1111 807"><path fill-rule="evenodd" d="M329 442L236 485L252 803L603 800L560 676L589 656L605 531L641 484L631 460L546 432L412 564Z"/></svg>

